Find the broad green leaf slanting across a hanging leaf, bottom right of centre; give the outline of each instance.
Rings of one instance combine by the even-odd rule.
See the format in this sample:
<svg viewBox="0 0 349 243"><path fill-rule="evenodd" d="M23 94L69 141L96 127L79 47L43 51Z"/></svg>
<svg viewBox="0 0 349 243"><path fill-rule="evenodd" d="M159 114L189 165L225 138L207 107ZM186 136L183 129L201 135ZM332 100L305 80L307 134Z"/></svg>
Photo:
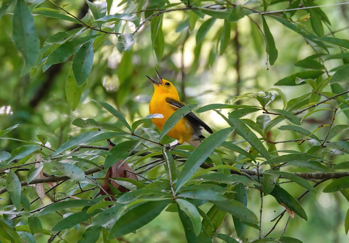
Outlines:
<svg viewBox="0 0 349 243"><path fill-rule="evenodd" d="M245 207L242 203L236 200L225 200L225 201L215 201L213 202L217 205L219 210L225 211L240 219L240 222L255 225L258 224L257 216Z"/></svg>

